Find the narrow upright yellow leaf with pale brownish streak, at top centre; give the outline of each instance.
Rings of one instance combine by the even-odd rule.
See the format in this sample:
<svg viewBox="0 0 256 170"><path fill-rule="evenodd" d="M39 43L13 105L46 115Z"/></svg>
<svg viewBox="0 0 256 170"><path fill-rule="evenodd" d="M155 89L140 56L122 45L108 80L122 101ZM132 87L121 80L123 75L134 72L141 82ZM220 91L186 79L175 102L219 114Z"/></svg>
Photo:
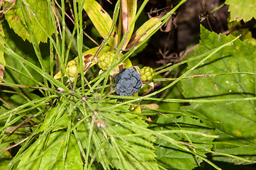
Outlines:
<svg viewBox="0 0 256 170"><path fill-rule="evenodd" d="M126 34L128 29L130 28L130 32L128 33L126 40L123 42L123 46L121 49L126 49L126 45L128 44L131 35L133 35L133 29L135 23L133 20L135 19L136 11L137 11L137 0L122 0L121 1L122 8L122 18L123 18L123 35ZM133 24L132 24L133 23Z"/></svg>

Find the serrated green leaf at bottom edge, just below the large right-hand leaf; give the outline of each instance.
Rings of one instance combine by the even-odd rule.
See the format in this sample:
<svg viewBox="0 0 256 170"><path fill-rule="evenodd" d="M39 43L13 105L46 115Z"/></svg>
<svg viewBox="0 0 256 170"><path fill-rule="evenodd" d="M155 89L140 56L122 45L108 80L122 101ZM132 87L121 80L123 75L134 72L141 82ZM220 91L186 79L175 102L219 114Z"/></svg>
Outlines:
<svg viewBox="0 0 256 170"><path fill-rule="evenodd" d="M208 126L204 123L201 123L200 120L191 118L189 116L179 116L167 114L160 115L160 118L157 120L154 125L152 125L153 130L189 130L195 132L201 132L204 134L211 135L213 130L208 128ZM191 141L190 144L196 147L203 147L204 149L211 149L211 141L214 139L213 137L204 137L201 135L191 135L187 133L167 133L168 137L172 137L174 140L179 141ZM204 149L195 148L196 154L204 156L207 153ZM192 149L193 147L190 147ZM166 169L193 169L196 166L199 166L197 158L194 154L187 152L186 150L180 149L175 145L171 145L169 142L165 140L157 140L155 142L155 149L157 149L157 162L164 166ZM201 162L202 160L199 159Z"/></svg>

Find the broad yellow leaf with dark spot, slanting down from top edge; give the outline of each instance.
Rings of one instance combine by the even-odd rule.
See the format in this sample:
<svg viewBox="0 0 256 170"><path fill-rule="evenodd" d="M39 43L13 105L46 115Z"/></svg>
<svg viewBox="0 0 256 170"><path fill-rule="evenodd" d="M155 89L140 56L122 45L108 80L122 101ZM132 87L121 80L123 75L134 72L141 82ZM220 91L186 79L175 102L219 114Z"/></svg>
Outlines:
<svg viewBox="0 0 256 170"><path fill-rule="evenodd" d="M79 0L79 3L81 4L82 2ZM84 1L84 11L87 12L91 22L94 23L95 28L99 31L101 36L106 38L106 35L108 35L111 30L113 21L104 8L95 0L87 0ZM117 37L116 30L113 30L113 34L108 41L111 47L117 47Z"/></svg>

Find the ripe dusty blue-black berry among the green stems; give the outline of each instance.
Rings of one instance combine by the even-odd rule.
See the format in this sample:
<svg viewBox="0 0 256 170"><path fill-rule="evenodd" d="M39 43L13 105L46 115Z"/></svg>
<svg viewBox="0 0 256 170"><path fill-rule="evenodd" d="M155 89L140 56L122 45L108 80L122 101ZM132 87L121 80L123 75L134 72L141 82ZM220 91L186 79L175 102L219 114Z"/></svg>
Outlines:
<svg viewBox="0 0 256 170"><path fill-rule="evenodd" d="M116 94L119 94L120 96L131 96L136 94L142 84L140 74L133 68L121 69L121 71L116 74L115 79Z"/></svg>

